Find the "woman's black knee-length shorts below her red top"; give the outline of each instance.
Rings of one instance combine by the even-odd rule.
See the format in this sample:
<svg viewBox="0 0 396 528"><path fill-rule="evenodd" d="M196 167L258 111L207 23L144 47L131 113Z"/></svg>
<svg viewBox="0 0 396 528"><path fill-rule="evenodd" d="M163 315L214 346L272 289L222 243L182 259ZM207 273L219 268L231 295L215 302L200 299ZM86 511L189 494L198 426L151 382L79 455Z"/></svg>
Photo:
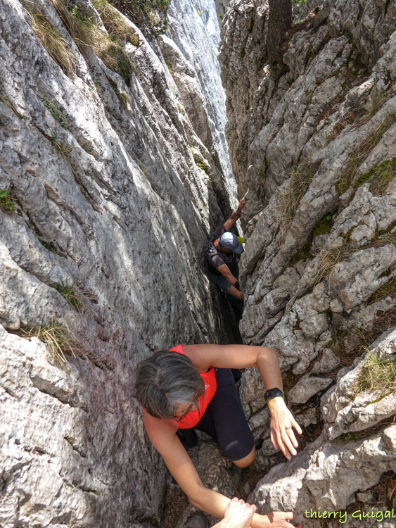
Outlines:
<svg viewBox="0 0 396 528"><path fill-rule="evenodd" d="M224 455L230 460L241 460L255 446L239 400L234 376L229 368L215 369L217 391L203 417L193 427L217 440ZM183 434L189 429L179 429Z"/></svg>

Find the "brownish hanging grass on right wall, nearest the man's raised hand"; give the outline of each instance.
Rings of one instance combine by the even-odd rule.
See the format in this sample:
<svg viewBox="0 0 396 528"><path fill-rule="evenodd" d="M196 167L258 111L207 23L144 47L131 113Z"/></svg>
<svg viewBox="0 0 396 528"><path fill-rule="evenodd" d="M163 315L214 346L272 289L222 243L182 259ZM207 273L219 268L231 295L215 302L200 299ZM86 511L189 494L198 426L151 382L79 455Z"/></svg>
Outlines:
<svg viewBox="0 0 396 528"><path fill-rule="evenodd" d="M293 168L292 175L288 180L288 186L283 191L281 206L279 209L281 244L286 237L293 218L295 216L302 196L305 195L311 184L315 172L317 172L321 161L305 162Z"/></svg>

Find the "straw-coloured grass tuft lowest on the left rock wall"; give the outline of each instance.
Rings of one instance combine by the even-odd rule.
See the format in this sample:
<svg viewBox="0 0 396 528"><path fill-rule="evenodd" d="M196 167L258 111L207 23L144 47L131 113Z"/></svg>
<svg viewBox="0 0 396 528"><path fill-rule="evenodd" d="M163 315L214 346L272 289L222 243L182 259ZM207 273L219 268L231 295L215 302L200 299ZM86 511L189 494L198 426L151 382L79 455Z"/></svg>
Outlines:
<svg viewBox="0 0 396 528"><path fill-rule="evenodd" d="M46 344L53 363L58 367L65 366L66 356L76 358L82 355L81 344L63 322L52 320L47 325L30 329L27 334L29 337L38 337Z"/></svg>

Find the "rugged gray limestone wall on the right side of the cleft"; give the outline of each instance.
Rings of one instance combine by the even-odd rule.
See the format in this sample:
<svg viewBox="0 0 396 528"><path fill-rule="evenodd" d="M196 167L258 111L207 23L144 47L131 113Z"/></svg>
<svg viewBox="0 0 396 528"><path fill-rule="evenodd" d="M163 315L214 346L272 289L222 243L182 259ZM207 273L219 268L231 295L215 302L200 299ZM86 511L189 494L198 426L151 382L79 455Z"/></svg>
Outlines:
<svg viewBox="0 0 396 528"><path fill-rule="evenodd" d="M396 324L395 14L395 1L308 0L295 9L283 69L265 62L265 2L231 1L224 18L226 135L238 192L251 202L241 334L276 350L306 445L279 465L260 374L246 371L255 465L265 474L276 464L250 495L261 512L296 510L302 520L306 508L370 504L364 492L395 472L395 426L385 429L395 391L352 391L364 348ZM393 361L387 335L378 350Z"/></svg>

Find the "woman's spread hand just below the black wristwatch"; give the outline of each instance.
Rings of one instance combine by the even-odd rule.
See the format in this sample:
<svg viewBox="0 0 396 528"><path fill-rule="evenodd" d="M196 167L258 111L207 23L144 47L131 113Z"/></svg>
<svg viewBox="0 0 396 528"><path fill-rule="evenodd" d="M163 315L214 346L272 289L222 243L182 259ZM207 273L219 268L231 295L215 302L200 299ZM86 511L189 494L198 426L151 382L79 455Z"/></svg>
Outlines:
<svg viewBox="0 0 396 528"><path fill-rule="evenodd" d="M291 455L297 455L295 448L298 448L293 427L298 434L302 434L301 427L293 418L281 396L268 400L268 408L271 413L272 444L274 444L275 449L281 449L283 455L290 460Z"/></svg>

